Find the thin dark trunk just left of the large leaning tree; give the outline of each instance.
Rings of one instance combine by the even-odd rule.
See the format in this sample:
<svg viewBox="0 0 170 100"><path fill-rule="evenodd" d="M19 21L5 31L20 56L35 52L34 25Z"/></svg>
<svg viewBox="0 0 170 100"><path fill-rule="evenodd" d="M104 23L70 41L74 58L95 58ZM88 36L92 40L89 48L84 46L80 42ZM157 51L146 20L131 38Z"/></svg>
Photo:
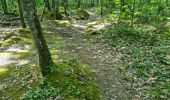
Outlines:
<svg viewBox="0 0 170 100"><path fill-rule="evenodd" d="M23 10L22 10L23 7L22 7L22 4L21 4L21 0L18 0L18 8L19 8L19 15L20 15L22 28L26 28L26 24L25 24L24 16L23 16Z"/></svg>

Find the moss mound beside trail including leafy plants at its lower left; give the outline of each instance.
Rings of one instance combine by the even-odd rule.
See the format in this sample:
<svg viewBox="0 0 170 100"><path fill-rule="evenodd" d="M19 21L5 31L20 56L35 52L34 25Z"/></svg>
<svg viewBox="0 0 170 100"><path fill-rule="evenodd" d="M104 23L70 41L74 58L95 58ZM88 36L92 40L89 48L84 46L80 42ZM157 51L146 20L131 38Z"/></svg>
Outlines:
<svg viewBox="0 0 170 100"><path fill-rule="evenodd" d="M62 100L100 99L100 89L89 66L70 58L58 61L55 67L56 70L45 77L42 85L26 93L24 100L56 97Z"/></svg>

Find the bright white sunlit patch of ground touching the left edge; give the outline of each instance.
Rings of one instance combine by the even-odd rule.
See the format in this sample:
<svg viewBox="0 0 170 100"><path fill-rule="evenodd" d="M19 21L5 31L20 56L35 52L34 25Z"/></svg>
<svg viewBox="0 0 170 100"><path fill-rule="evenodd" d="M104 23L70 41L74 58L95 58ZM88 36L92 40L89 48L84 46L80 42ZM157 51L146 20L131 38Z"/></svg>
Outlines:
<svg viewBox="0 0 170 100"><path fill-rule="evenodd" d="M11 58L13 58L12 53L0 53L0 66L13 63Z"/></svg>

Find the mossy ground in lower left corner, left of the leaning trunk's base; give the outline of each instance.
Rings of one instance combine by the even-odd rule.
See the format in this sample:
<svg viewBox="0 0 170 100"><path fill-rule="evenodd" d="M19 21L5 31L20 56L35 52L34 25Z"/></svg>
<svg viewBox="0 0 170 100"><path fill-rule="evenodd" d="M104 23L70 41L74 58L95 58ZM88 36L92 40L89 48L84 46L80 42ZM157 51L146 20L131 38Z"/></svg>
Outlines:
<svg viewBox="0 0 170 100"><path fill-rule="evenodd" d="M0 93L1 99L4 97L4 99L10 98L19 100L21 94L25 93L29 88L35 88L39 85L41 77L37 76L40 75L40 72L39 68L35 67L34 62L19 66L17 69L14 68L14 65L4 67L8 67L8 71L0 75L0 84L4 84L1 88L1 91L3 91L2 94ZM4 79L8 80L5 81Z"/></svg>

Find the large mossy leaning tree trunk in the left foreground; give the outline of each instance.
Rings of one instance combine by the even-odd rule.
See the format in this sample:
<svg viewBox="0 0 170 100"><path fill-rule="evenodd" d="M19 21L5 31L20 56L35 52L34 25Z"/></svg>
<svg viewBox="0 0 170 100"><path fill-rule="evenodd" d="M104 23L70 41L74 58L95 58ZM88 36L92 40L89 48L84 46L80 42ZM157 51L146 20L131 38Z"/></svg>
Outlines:
<svg viewBox="0 0 170 100"><path fill-rule="evenodd" d="M24 14L26 16L35 45L37 47L39 55L39 66L41 68L42 75L46 76L51 69L51 65L53 65L54 63L52 61L51 54L49 52L38 16L36 14L35 5L33 3L33 0L22 0L22 4L23 10L25 12Z"/></svg>

